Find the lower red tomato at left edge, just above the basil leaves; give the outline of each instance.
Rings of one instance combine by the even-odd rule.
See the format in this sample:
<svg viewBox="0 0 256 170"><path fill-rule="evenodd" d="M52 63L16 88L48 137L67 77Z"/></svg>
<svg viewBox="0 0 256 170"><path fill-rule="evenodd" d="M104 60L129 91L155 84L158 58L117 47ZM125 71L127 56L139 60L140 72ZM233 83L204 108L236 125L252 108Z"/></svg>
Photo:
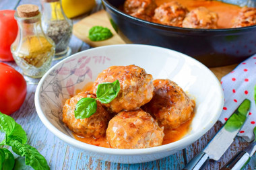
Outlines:
<svg viewBox="0 0 256 170"><path fill-rule="evenodd" d="M27 93L24 77L0 62L0 112L10 115L22 106Z"/></svg>

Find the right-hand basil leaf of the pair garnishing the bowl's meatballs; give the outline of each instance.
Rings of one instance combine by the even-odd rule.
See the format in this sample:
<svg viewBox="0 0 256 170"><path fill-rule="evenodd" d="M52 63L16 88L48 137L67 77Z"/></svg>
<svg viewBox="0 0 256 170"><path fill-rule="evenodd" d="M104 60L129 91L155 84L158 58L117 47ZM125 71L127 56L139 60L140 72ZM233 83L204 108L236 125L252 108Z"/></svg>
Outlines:
<svg viewBox="0 0 256 170"><path fill-rule="evenodd" d="M117 97L120 91L119 80L114 81L113 83L101 83L98 85L96 95L97 99L101 103L110 103Z"/></svg>

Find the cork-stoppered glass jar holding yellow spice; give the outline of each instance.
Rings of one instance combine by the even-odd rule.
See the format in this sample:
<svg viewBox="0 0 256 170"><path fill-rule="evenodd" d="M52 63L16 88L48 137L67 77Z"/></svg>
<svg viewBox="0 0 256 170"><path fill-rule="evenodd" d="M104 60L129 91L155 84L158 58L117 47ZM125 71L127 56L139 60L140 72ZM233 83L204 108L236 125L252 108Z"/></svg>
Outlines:
<svg viewBox="0 0 256 170"><path fill-rule="evenodd" d="M42 30L38 6L20 5L14 17L18 22L19 31L11 44L11 53L22 69L26 81L36 84L51 67L55 43Z"/></svg>

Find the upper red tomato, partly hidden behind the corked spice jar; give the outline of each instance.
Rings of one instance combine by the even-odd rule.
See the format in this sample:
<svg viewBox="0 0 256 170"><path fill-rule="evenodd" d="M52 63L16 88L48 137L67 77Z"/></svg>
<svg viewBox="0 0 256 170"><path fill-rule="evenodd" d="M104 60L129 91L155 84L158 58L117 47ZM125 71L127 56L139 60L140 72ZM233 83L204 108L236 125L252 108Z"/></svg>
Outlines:
<svg viewBox="0 0 256 170"><path fill-rule="evenodd" d="M13 60L11 44L18 34L18 25L14 19L15 10L0 11L0 60Z"/></svg>

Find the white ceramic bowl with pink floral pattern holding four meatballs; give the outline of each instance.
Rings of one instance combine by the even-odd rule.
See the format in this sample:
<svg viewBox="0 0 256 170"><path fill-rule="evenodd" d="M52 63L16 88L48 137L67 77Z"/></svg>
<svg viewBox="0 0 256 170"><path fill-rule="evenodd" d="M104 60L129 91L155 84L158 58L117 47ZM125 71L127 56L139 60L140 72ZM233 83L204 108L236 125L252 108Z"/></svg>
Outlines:
<svg viewBox="0 0 256 170"><path fill-rule="evenodd" d="M65 99L113 65L137 65L154 79L170 79L181 86L196 102L191 131L177 142L141 149L103 148L75 140L62 122ZM115 163L143 163L176 153L214 126L223 103L218 79L200 62L173 50L137 44L102 46L73 54L42 77L35 94L36 112L46 128L79 151Z"/></svg>

